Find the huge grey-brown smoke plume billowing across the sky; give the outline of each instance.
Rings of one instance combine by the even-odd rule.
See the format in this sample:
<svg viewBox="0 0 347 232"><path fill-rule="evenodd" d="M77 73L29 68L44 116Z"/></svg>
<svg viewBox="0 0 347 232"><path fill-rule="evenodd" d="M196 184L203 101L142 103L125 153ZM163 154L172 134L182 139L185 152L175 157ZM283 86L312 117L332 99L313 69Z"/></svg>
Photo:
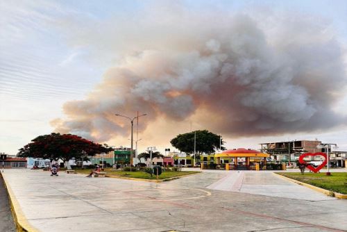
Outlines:
<svg viewBox="0 0 347 232"><path fill-rule="evenodd" d="M345 55L330 25L266 14L177 10L76 35L85 44L100 40L96 49L121 58L85 100L65 103L67 118L52 124L98 141L128 135L128 122L114 114L137 110L148 114L142 129L158 118L194 119L232 137L344 124L332 108L346 88ZM103 33L109 41L97 37Z"/></svg>

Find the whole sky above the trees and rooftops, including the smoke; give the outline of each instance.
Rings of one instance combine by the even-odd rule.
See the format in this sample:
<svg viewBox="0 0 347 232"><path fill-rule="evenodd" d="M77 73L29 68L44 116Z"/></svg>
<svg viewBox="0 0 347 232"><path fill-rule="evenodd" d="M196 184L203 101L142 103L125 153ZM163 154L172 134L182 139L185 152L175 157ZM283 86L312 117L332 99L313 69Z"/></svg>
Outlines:
<svg viewBox="0 0 347 232"><path fill-rule="evenodd" d="M347 151L346 22L337 0L1 1L0 152L51 132L130 147L115 113L137 111L139 151L198 129Z"/></svg>

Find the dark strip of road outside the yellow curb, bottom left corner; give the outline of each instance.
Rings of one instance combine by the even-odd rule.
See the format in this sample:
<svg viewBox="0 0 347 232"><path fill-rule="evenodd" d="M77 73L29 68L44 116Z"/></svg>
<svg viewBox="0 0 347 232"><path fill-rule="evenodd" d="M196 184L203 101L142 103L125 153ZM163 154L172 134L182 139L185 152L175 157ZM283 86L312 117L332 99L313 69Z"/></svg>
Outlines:
<svg viewBox="0 0 347 232"><path fill-rule="evenodd" d="M8 194L0 174L0 232L16 231L9 202Z"/></svg>

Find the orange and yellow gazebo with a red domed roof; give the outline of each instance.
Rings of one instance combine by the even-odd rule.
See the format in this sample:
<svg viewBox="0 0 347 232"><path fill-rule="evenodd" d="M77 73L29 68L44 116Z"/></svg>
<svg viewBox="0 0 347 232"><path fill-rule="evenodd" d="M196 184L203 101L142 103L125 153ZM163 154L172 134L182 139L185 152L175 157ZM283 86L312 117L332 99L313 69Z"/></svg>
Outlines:
<svg viewBox="0 0 347 232"><path fill-rule="evenodd" d="M221 158L232 158L233 164L231 167L230 164L226 165L226 169L230 167L231 169L252 169L251 166L254 165L254 169L259 169L257 164L262 166L266 165L266 158L270 157L269 154L264 154L260 151L252 150L252 149L230 149L223 151L221 154L215 154L214 158L217 160L217 165L221 164ZM245 165L240 165L238 158L245 158ZM251 165L251 163L253 165ZM228 166L228 167L227 167Z"/></svg>

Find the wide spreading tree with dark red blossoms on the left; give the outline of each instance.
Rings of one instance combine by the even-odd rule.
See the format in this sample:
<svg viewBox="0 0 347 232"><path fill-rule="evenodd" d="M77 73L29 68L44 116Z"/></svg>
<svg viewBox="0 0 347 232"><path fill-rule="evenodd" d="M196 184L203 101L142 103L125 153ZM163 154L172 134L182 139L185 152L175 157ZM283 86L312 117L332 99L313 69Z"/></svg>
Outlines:
<svg viewBox="0 0 347 232"><path fill-rule="evenodd" d="M82 156L95 156L112 151L107 144L101 145L78 135L51 133L40 135L19 149L18 156L44 158L49 160L62 159L64 162L71 158L80 159Z"/></svg>

